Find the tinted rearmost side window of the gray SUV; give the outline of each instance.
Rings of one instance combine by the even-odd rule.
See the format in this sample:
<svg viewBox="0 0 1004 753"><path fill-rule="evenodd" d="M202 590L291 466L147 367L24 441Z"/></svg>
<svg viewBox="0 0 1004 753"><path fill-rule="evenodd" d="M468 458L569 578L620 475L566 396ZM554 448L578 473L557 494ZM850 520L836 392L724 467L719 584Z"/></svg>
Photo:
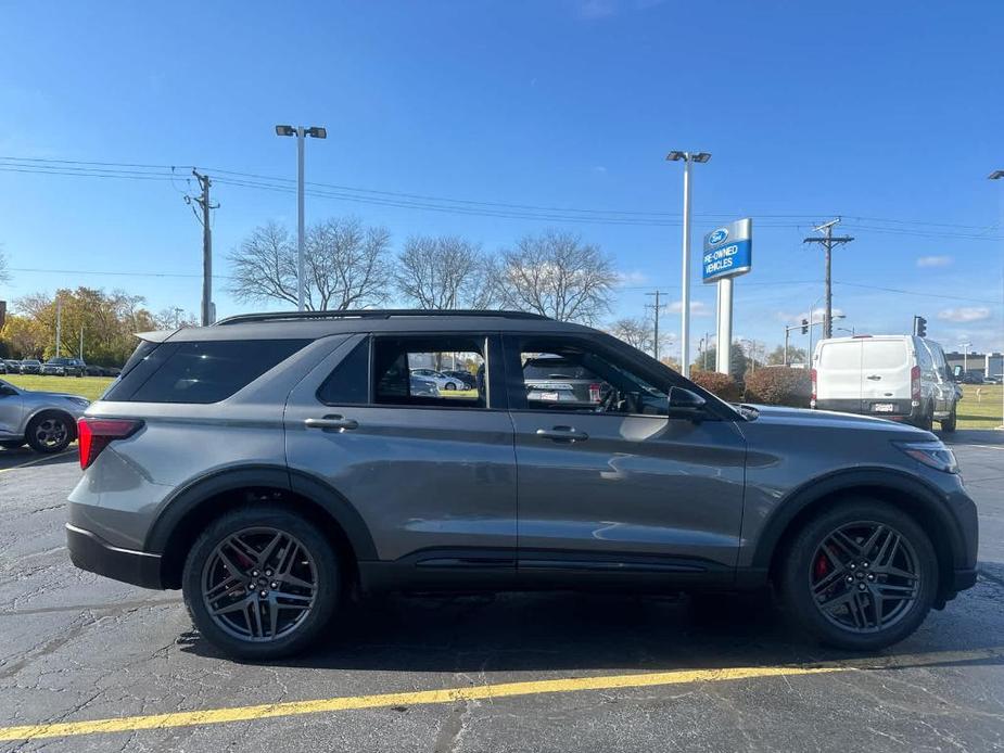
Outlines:
<svg viewBox="0 0 1004 753"><path fill-rule="evenodd" d="M245 387L308 342L239 340L167 343L153 350L141 367L134 368L116 382L104 399L217 403Z"/></svg>

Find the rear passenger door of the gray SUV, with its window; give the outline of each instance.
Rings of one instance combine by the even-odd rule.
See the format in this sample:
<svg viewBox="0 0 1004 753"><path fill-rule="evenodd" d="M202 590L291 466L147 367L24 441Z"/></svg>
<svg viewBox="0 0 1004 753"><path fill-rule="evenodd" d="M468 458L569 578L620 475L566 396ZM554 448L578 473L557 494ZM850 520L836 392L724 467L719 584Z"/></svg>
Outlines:
<svg viewBox="0 0 1004 753"><path fill-rule="evenodd" d="M441 352L491 366L499 347L484 333L356 335L289 397L294 486L320 480L347 500L377 560L398 565L399 585L516 572L516 456L504 390L490 380L473 396L412 395L409 368Z"/></svg>

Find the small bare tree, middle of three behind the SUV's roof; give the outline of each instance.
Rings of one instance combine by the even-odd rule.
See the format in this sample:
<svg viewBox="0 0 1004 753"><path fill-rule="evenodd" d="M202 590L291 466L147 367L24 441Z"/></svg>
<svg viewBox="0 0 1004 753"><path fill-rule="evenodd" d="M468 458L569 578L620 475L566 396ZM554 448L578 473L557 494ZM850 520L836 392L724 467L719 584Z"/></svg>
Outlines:
<svg viewBox="0 0 1004 753"><path fill-rule="evenodd" d="M492 260L456 235L409 238L394 277L421 308L488 308L496 297Z"/></svg>

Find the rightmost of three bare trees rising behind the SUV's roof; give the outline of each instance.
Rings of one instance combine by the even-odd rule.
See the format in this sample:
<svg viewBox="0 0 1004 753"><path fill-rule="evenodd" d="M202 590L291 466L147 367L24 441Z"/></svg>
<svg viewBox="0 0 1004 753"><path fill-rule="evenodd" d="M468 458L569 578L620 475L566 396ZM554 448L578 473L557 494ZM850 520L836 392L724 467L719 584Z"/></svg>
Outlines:
<svg viewBox="0 0 1004 753"><path fill-rule="evenodd" d="M618 280L598 246L556 230L526 235L516 248L503 252L498 272L506 306L587 323L610 309Z"/></svg>

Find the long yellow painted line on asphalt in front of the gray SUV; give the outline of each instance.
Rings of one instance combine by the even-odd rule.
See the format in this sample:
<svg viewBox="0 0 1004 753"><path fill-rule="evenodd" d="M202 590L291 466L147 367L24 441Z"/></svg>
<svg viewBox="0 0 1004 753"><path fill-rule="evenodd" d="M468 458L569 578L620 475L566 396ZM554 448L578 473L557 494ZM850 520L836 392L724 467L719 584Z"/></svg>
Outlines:
<svg viewBox="0 0 1004 753"><path fill-rule="evenodd" d="M588 690L613 690L618 688L649 688L656 686L685 685L690 682L722 682L727 680L798 677L850 672L853 669L892 669L908 666L931 666L942 663L957 663L977 660L1004 659L1004 647L976 651L949 651L940 653L887 656L857 662L833 662L815 666L763 666L730 667L722 669L677 669L636 675L607 675L599 677L569 677L526 682L501 682L467 688L444 688L417 692L380 693L376 695L350 695L315 701L291 701L265 703L254 706L209 709L205 711L126 716L117 719L93 719L91 722L60 722L54 724L0 727L0 740L35 740L101 732L131 732L142 729L167 729L196 725L225 724L228 722L251 722L278 716L300 716L327 712L387 706L429 705L455 703L513 695L536 695L542 693L568 693Z"/></svg>

